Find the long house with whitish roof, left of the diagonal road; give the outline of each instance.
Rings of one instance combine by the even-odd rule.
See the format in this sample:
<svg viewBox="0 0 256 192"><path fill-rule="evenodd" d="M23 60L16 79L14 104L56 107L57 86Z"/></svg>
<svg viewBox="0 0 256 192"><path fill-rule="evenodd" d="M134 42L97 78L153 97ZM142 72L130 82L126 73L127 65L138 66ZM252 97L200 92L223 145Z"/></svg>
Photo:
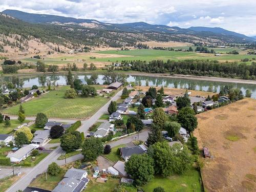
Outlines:
<svg viewBox="0 0 256 192"><path fill-rule="evenodd" d="M35 149L35 146L33 146L32 144L29 144L22 148L19 148L19 150L17 150L14 153L9 153L7 157L9 157L11 162L13 163L20 162L26 159L34 149Z"/></svg>

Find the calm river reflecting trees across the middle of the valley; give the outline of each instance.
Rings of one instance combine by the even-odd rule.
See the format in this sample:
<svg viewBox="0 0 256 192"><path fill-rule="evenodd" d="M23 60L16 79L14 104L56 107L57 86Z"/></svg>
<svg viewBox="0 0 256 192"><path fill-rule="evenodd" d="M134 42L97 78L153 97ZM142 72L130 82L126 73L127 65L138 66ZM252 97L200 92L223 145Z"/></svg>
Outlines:
<svg viewBox="0 0 256 192"><path fill-rule="evenodd" d="M26 75L19 76L24 80L24 88L31 88L34 84L37 86L42 86L40 82L40 76L42 75ZM66 84L66 76L65 75L45 75L47 79L51 79L55 81L56 84L59 85ZM91 76L74 74L75 78L79 78L82 80L84 84L86 84L86 80ZM4 76L4 81L10 81L11 76ZM103 75L98 75L98 83L103 84ZM133 81L141 81L141 85L145 86L146 81L148 81L149 86L163 86L168 88L193 88L194 90L202 90L207 91L209 86L214 86L214 89L217 88L217 92L219 92L221 86L232 86L234 88L238 88L243 91L245 95L245 91L247 89L251 90L252 98L256 99L256 85L255 84L243 84L243 83L232 83L232 82L218 82L218 81L207 81L207 80L193 80L193 79L183 79L183 78L172 78L172 77L148 77L148 76L138 76L138 75L128 75L128 82Z"/></svg>

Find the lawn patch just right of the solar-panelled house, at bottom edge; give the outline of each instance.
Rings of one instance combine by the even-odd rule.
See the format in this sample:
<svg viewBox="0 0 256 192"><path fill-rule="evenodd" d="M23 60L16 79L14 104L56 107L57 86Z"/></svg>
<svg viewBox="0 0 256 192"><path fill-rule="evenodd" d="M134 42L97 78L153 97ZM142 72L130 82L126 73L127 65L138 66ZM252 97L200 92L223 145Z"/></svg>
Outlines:
<svg viewBox="0 0 256 192"><path fill-rule="evenodd" d="M119 179L109 178L105 183L97 183L96 181L90 180L86 187L86 191L98 192L98 191L112 191L115 186L119 183Z"/></svg>

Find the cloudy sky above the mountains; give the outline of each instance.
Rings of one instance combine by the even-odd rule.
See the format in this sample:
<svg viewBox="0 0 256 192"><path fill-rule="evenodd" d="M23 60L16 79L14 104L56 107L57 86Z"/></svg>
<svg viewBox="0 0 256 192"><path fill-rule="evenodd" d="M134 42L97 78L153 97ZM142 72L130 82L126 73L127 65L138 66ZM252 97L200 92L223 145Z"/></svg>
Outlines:
<svg viewBox="0 0 256 192"><path fill-rule="evenodd" d="M108 23L222 27L256 35L256 0L0 0L0 11L5 9Z"/></svg>

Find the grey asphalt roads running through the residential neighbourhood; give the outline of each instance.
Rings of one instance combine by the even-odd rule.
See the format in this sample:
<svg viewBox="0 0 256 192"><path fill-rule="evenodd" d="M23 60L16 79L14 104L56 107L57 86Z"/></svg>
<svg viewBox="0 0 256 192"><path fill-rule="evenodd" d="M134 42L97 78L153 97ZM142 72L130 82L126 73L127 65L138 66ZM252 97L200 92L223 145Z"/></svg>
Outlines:
<svg viewBox="0 0 256 192"><path fill-rule="evenodd" d="M122 90L117 92L117 94L112 97L105 105L102 106L92 117L90 117L87 120L81 121L82 125L79 127L79 132L84 132L84 135L87 135L87 132L89 130L89 127L92 126L101 115L108 112L108 106L110 102L116 101L121 97ZM10 116L11 119L16 119L17 116ZM28 120L35 120L35 117L27 117ZM64 121L64 122L75 122L76 120L69 120L69 119L49 119L49 121ZM118 144L117 144L118 145ZM45 159L41 160L36 166L34 166L26 175L24 175L22 178L20 178L16 183L14 183L10 188L6 190L6 192L16 192L17 190L24 190L30 182L36 178L37 175L45 172L48 168L48 165L52 162L56 162L58 157L63 153L63 150L60 146L58 146L52 153L50 153ZM78 160L77 158L81 158L82 156L72 156L69 158L69 161L75 161ZM67 159L66 159L67 160ZM59 164L65 164L65 160L58 161ZM67 162L68 163L68 162Z"/></svg>

